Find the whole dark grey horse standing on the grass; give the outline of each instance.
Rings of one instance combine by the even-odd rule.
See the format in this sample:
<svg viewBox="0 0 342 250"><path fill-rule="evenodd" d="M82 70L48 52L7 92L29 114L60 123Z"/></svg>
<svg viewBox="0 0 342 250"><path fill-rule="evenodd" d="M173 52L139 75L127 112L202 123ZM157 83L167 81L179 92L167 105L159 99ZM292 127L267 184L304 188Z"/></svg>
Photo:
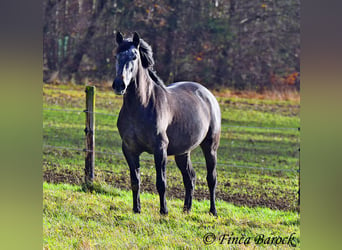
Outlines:
<svg viewBox="0 0 342 250"><path fill-rule="evenodd" d="M166 87L154 70L151 46L138 33L124 39L117 32L116 42L116 77L112 88L123 96L117 127L130 169L133 212L141 212L139 156L143 152L154 155L160 214L168 214L166 164L169 155L174 156L183 176L183 211L190 212L196 178L190 153L200 146L207 167L209 212L217 216L216 162L221 112L216 98L195 82L176 82Z"/></svg>

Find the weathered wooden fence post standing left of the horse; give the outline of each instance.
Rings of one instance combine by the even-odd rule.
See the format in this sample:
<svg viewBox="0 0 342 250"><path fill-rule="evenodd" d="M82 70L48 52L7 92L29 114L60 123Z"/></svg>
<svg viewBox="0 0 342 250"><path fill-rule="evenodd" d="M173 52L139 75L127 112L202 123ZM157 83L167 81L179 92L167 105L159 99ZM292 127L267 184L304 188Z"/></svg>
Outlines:
<svg viewBox="0 0 342 250"><path fill-rule="evenodd" d="M86 86L86 156L85 156L85 185L92 186L95 165L95 87Z"/></svg>

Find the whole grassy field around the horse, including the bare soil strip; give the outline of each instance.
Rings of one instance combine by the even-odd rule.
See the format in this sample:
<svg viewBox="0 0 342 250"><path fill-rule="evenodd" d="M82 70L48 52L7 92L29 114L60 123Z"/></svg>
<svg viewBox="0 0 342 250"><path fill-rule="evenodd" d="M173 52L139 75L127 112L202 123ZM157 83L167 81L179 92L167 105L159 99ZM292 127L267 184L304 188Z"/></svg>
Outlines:
<svg viewBox="0 0 342 250"><path fill-rule="evenodd" d="M169 215L160 216L153 158L142 155L142 214L131 212L129 171L116 128L121 97L96 93L96 161L93 193L84 178L85 93L82 86L44 85L44 247L112 249L195 246L253 248L295 233L299 247L299 101L222 95L218 152L218 217L208 214L209 192L201 151L192 153L195 201L183 214L182 177L173 158L167 166ZM60 111L60 110L64 111ZM110 114L110 115L107 115ZM211 245L203 242L214 233ZM224 235L222 238L222 235ZM256 242L263 234L266 244ZM221 236L221 238L220 238ZM228 243L251 237L249 244ZM208 236L211 237L210 235ZM277 239L275 237L278 237ZM223 244L220 244L223 239ZM232 241L234 241L232 239ZM285 241L284 241L285 242ZM293 248L282 244L282 248Z"/></svg>

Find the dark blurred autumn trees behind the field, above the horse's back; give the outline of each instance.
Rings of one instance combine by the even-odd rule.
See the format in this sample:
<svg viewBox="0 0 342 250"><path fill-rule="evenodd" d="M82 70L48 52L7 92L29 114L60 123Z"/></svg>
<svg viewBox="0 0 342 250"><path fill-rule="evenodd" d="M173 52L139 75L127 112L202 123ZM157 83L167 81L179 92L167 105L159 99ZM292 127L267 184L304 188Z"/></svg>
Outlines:
<svg viewBox="0 0 342 250"><path fill-rule="evenodd" d="M166 82L299 88L299 0L44 0L44 80L112 81L115 33L152 45Z"/></svg>

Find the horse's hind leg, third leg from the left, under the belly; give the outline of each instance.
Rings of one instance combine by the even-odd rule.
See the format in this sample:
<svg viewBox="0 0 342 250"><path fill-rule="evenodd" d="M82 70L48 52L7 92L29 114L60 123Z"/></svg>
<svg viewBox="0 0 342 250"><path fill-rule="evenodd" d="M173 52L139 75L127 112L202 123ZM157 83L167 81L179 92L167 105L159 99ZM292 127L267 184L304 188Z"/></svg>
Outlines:
<svg viewBox="0 0 342 250"><path fill-rule="evenodd" d="M192 205L192 196L195 188L196 174L190 160L190 153L176 155L175 161L182 172L185 187L184 212L189 212Z"/></svg>

